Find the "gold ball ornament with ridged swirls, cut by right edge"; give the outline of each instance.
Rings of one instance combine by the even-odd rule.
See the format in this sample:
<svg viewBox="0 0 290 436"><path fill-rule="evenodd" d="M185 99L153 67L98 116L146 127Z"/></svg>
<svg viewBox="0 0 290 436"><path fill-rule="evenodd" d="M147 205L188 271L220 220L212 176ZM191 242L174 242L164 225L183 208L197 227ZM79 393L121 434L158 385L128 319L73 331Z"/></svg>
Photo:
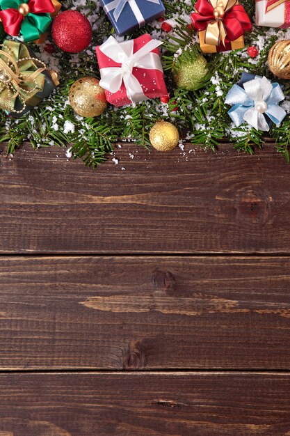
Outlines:
<svg viewBox="0 0 290 436"><path fill-rule="evenodd" d="M269 70L280 79L290 79L290 40L277 41L268 54Z"/></svg>

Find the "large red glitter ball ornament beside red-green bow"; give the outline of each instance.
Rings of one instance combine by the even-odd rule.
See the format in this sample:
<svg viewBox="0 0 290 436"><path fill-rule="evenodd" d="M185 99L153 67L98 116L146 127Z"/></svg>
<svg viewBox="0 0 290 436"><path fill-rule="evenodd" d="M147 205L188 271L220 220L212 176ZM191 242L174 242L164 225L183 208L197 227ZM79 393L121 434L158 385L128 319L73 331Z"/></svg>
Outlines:
<svg viewBox="0 0 290 436"><path fill-rule="evenodd" d="M51 35L64 52L79 53L90 44L92 26L88 18L77 10L64 10L54 19Z"/></svg>

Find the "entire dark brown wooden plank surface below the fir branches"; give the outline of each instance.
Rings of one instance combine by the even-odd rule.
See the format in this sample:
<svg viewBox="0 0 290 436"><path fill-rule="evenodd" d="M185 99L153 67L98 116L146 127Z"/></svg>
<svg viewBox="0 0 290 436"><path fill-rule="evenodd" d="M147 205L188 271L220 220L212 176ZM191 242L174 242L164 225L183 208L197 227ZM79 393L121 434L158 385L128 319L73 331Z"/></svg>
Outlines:
<svg viewBox="0 0 290 436"><path fill-rule="evenodd" d="M0 436L290 436L290 166L271 144L0 160Z"/></svg>

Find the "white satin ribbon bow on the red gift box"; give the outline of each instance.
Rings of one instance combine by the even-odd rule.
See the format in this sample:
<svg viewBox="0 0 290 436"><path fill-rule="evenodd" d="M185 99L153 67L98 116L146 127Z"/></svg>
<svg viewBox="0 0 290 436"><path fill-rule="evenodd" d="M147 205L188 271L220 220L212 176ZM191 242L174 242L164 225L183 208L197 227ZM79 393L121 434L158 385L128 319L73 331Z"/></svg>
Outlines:
<svg viewBox="0 0 290 436"><path fill-rule="evenodd" d="M110 36L99 49L120 66L101 68L99 70L101 74L99 86L110 93L116 93L124 83L127 97L133 104L148 100L143 93L141 84L133 74L133 69L144 68L163 71L159 55L152 53L152 50L161 44L163 42L151 40L134 53L134 40L127 40L120 44L113 36Z"/></svg>

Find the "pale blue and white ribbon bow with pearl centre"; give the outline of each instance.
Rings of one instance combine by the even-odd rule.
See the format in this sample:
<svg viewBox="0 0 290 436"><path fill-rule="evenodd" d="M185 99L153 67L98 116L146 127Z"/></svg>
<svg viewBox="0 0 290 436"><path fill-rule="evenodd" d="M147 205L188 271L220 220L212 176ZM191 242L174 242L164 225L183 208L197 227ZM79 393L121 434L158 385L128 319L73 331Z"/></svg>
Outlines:
<svg viewBox="0 0 290 436"><path fill-rule="evenodd" d="M282 123L286 112L279 103L284 100L284 94L279 84L266 77L255 77L241 86L234 86L227 93L225 103L233 105L228 114L236 126L244 121L256 130L268 132L270 126L265 116L275 124Z"/></svg>

